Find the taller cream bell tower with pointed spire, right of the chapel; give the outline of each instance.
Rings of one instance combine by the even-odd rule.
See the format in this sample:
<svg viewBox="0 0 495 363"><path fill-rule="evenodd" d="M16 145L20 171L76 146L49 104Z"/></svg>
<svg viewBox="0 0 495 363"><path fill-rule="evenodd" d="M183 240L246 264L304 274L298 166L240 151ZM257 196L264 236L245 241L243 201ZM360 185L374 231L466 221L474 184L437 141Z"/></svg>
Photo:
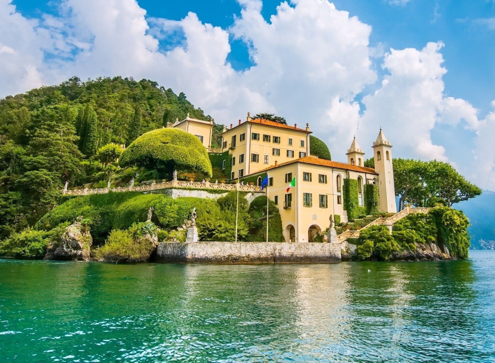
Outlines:
<svg viewBox="0 0 495 363"><path fill-rule="evenodd" d="M380 195L380 211L396 213L396 188L394 184L394 168L392 166L392 145L383 134L380 133L373 143L375 156L375 171L378 173L378 193Z"/></svg>

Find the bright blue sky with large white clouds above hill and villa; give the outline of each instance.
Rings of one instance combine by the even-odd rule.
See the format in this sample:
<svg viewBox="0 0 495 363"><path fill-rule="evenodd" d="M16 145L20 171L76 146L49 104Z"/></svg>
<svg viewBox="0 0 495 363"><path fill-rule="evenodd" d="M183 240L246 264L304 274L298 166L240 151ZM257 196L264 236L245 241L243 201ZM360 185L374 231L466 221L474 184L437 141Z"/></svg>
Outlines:
<svg viewBox="0 0 495 363"><path fill-rule="evenodd" d="M495 1L0 0L2 19L0 97L74 74L149 78L220 123L308 122L338 160L383 126L396 156L495 189Z"/></svg>

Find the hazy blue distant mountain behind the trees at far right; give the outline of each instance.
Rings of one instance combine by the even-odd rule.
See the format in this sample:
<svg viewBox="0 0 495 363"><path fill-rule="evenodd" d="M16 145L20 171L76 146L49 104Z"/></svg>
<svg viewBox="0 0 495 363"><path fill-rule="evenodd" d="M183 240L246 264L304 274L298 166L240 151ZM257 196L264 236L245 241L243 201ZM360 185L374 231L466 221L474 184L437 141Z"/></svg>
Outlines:
<svg viewBox="0 0 495 363"><path fill-rule="evenodd" d="M471 248L495 249L495 192L484 190L482 195L453 207L462 210L471 221Z"/></svg>

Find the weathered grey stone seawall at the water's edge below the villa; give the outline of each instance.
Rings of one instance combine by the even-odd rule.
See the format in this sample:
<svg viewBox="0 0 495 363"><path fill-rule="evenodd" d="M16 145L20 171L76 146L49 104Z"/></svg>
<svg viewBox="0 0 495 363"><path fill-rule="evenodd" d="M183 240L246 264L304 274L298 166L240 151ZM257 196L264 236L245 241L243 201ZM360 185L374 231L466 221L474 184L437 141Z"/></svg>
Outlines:
<svg viewBox="0 0 495 363"><path fill-rule="evenodd" d="M157 262L340 262L341 245L281 242L162 242Z"/></svg>

